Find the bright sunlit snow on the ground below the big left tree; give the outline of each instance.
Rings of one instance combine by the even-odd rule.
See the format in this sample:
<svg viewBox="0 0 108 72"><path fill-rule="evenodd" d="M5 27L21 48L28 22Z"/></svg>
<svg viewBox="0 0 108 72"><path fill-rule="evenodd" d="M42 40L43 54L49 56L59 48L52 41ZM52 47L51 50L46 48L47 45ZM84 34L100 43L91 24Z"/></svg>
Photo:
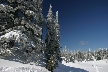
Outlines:
<svg viewBox="0 0 108 72"><path fill-rule="evenodd" d="M48 70L41 66L35 66L35 64L30 65L0 59L0 72L48 72Z"/></svg>

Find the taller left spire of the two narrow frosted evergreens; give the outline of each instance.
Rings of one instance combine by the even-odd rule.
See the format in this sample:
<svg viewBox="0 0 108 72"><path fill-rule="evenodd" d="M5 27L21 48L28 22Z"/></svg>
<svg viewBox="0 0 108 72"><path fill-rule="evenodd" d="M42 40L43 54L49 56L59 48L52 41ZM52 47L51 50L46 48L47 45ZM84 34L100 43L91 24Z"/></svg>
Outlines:
<svg viewBox="0 0 108 72"><path fill-rule="evenodd" d="M54 30L52 28L52 27L54 27L54 15L52 14L51 9L52 9L52 6L50 5L48 15L47 15L48 18L46 20L47 34L46 34L46 37L45 37L45 43L46 43L45 56L47 57L47 59L50 59L51 53L53 53L53 49L54 49L54 48L51 48L52 43L50 42L51 38L52 38L51 33L52 33L52 30Z"/></svg>

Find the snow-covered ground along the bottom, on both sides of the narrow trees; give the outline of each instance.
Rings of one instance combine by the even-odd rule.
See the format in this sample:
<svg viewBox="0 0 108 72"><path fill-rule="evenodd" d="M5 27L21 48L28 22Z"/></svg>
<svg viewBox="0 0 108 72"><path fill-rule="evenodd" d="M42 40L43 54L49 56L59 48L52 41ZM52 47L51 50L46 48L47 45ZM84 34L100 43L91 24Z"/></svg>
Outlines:
<svg viewBox="0 0 108 72"><path fill-rule="evenodd" d="M108 72L108 63L105 60L95 61L98 72ZM34 63L22 64L15 61L0 59L0 72L49 72L44 67L35 66ZM66 63L62 61L54 72L97 72L93 61Z"/></svg>

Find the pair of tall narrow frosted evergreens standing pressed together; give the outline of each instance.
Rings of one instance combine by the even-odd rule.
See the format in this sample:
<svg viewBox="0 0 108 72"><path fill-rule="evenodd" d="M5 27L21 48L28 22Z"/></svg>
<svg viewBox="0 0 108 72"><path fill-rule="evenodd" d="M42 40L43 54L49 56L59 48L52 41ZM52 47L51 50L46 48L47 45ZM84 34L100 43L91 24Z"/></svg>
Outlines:
<svg viewBox="0 0 108 72"><path fill-rule="evenodd" d="M58 61L61 61L61 52L60 52L60 31L58 24L58 12L56 12L56 18L54 18L51 9L52 6L50 5L46 20L47 34L45 39L46 43L45 56L47 58L46 68L50 71L53 71L58 66ZM54 56L53 58L54 66L50 65L51 63L49 62L52 61L51 59L52 56Z"/></svg>

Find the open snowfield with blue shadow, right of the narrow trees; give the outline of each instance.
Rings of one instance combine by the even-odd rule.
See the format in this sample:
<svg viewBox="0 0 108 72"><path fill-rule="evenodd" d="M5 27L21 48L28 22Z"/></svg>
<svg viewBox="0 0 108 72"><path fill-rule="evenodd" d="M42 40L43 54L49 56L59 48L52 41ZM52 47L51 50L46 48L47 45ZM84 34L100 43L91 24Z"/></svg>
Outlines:
<svg viewBox="0 0 108 72"><path fill-rule="evenodd" d="M94 63L98 70L93 66ZM62 61L55 72L108 72L108 63L105 60L76 63Z"/></svg>

